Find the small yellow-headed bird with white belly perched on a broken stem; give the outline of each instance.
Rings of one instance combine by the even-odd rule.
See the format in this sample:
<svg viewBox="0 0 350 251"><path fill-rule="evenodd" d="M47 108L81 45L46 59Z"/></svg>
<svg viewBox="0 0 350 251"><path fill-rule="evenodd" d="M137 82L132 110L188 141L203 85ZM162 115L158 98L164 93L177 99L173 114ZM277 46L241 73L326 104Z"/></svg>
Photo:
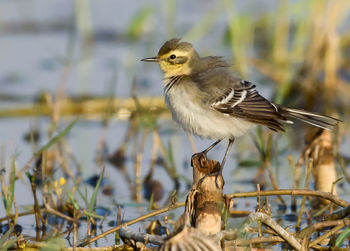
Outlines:
<svg viewBox="0 0 350 251"><path fill-rule="evenodd" d="M191 134L215 140L202 154L207 154L223 139L229 140L221 168L235 138L254 125L281 132L284 123L292 124L292 120L326 130L333 130L340 122L337 118L269 101L258 93L255 84L240 78L223 57L201 57L191 43L181 42L179 38L166 41L157 56L141 61L156 62L163 71L165 102L173 120Z"/></svg>

